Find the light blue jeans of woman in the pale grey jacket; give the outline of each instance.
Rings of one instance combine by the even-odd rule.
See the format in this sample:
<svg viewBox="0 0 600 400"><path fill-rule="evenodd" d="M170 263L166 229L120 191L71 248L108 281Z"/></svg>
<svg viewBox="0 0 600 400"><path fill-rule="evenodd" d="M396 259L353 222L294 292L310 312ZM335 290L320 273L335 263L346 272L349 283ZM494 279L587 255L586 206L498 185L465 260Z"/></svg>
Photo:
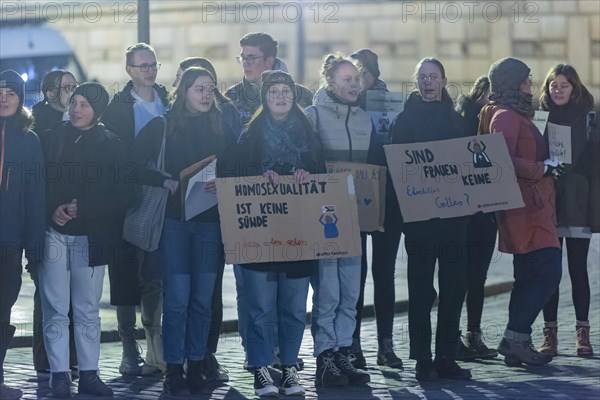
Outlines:
<svg viewBox="0 0 600 400"><path fill-rule="evenodd" d="M360 295L360 257L319 260L311 284L314 356L350 346Z"/></svg>

